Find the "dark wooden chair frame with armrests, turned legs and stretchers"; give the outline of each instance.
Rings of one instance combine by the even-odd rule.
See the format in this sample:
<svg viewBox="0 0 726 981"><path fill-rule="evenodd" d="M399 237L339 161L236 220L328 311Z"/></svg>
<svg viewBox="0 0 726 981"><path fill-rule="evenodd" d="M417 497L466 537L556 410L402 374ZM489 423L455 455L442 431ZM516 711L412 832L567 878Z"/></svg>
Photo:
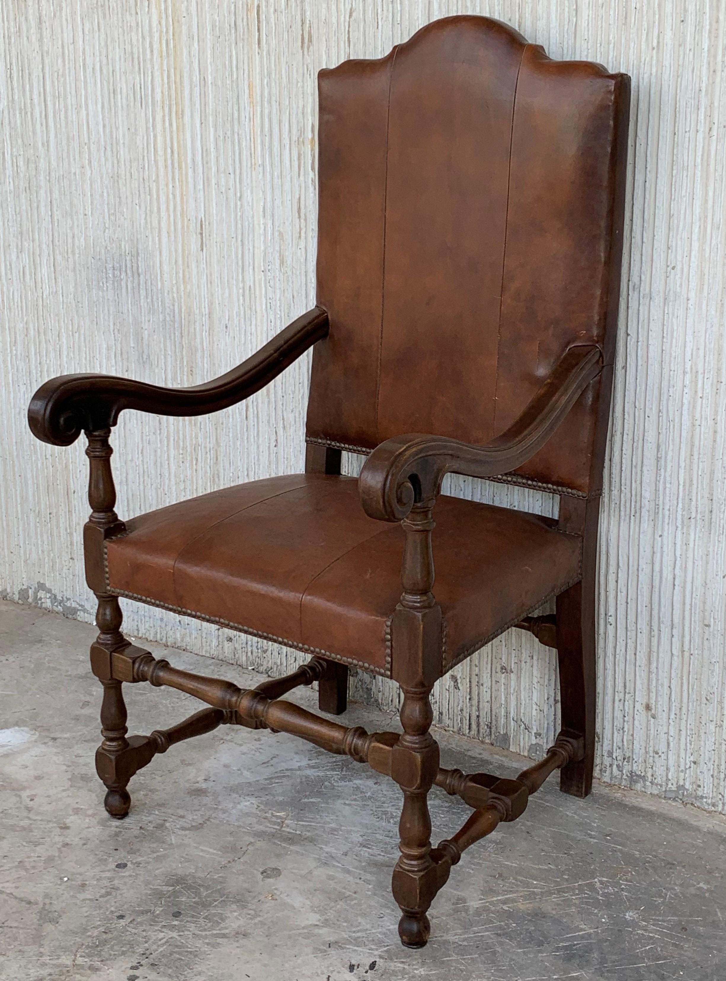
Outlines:
<svg viewBox="0 0 726 981"><path fill-rule="evenodd" d="M454 439L408 435L389 439L369 456L360 476L363 507L373 518L399 521L405 532L402 594L391 621L396 650L392 676L403 692L401 735L369 734L346 728L289 701L280 700L299 685L317 681L320 707L339 713L345 707L347 667L313 656L308 664L254 690L231 682L190 674L156 660L121 632L118 596L104 576L104 542L125 530L116 511L109 437L124 409L170 416L216 412L269 384L312 344L328 333L328 316L316 307L239 367L207 385L172 389L102 375L71 375L40 387L30 403L33 434L55 445L70 445L81 432L88 441L88 499L91 515L84 528L88 586L98 599L98 638L91 646L91 667L103 686L103 742L96 753L98 775L107 788L105 806L123 818L130 808L130 778L181 740L210 732L220 724L286 732L329 752L368 763L388 774L403 792L400 857L393 871L393 896L400 906L399 934L404 945L426 944L427 910L461 853L490 834L500 821L513 821L546 777L560 770L560 787L586 796L592 786L595 749L595 571L598 495L561 495L560 528L583 536L582 579L560 594L556 617L526 618L516 626L530 630L545 645L556 646L560 669L562 729L544 759L516 780L486 773L463 774L440 766L439 745L430 732L430 695L442 674L441 608L433 593L431 533L441 480L454 471L473 477L506 474L530 459L549 439L585 388L600 374L602 355L594 344L571 346L517 422L498 439L471 445ZM608 378L609 378L609 373ZM605 403L607 399L604 400ZM600 460L601 465L601 453ZM340 472L340 450L309 443L306 470ZM127 736L122 686L146 681L199 698L210 707L179 725L150 736ZM473 813L450 838L431 845L428 795L436 785L458 795Z"/></svg>

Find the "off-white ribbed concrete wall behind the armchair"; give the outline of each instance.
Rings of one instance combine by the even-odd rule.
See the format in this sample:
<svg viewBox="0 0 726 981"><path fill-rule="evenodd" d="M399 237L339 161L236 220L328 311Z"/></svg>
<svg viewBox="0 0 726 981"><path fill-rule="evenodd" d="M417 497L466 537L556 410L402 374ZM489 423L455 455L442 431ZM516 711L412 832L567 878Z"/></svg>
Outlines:
<svg viewBox="0 0 726 981"><path fill-rule="evenodd" d="M509 22L555 58L633 77L596 766L604 780L726 810L719 0L4 0L0 586L92 616L83 447L31 439L34 387L78 370L201 382L307 309L317 70L379 57L428 21L465 12ZM122 516L299 470L308 370L304 360L208 419L123 417L114 438ZM455 490L553 506L458 479ZM297 660L126 606L136 636L271 672ZM552 653L510 632L444 680L437 722L537 754L556 731ZM380 680L356 685L393 702Z"/></svg>

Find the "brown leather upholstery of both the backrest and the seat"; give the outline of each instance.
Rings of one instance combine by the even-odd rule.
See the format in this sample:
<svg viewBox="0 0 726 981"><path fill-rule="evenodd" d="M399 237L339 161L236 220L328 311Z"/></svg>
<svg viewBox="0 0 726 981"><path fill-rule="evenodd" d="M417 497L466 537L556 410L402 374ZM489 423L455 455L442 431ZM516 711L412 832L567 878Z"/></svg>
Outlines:
<svg viewBox="0 0 726 981"><path fill-rule="evenodd" d="M514 478L596 494L627 112L627 77L550 61L487 18L447 18L380 61L320 73L330 331L310 441L488 441L571 345L596 343L600 376ZM554 521L446 496L434 516L441 672L581 579L582 539ZM106 588L396 674L403 535L365 514L350 478L273 478L132 520L106 542Z"/></svg>

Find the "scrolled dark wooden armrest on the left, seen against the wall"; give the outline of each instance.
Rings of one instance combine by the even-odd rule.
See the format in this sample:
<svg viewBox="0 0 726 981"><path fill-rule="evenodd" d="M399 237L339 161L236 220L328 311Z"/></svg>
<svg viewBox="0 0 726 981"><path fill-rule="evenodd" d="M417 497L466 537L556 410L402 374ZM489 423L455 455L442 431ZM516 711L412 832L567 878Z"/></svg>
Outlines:
<svg viewBox="0 0 726 981"><path fill-rule="evenodd" d="M328 314L314 307L226 375L189 388L164 388L111 375L62 375L38 388L27 421L37 439L70 446L83 430L114 426L123 409L163 416L218 412L272 382L327 334Z"/></svg>

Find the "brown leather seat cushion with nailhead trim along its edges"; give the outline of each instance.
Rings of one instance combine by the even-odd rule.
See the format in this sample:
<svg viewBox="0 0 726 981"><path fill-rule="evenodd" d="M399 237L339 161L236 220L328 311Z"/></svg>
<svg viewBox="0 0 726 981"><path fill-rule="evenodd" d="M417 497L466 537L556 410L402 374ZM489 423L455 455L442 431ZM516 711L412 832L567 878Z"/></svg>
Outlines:
<svg viewBox="0 0 726 981"><path fill-rule="evenodd" d="M441 496L433 534L442 669L580 576L581 539L550 519ZM275 477L127 523L106 543L111 592L390 673L403 531L352 478Z"/></svg>

